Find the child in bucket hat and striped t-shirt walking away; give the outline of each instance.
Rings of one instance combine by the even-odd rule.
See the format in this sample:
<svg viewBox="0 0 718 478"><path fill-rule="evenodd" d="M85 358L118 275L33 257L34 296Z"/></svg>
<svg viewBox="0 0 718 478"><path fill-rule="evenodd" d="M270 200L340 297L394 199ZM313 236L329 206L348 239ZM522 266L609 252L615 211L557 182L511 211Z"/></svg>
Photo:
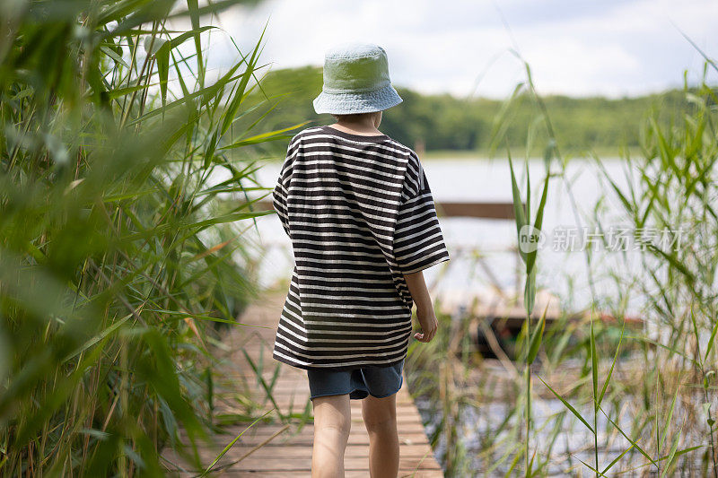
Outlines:
<svg viewBox="0 0 718 478"><path fill-rule="evenodd" d="M372 478L398 473L396 393L411 309L430 342L438 323L422 271L449 260L416 152L383 135L402 100L383 48L329 50L317 113L337 123L295 135L273 193L295 267L273 358L307 370L312 476L344 476L350 399L362 400Z"/></svg>

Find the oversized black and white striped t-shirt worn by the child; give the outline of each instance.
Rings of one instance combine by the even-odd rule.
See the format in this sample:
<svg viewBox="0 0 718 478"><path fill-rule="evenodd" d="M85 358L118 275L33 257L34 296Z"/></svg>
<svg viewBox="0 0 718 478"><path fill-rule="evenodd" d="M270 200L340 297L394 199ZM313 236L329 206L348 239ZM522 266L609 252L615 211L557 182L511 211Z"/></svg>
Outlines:
<svg viewBox="0 0 718 478"><path fill-rule="evenodd" d="M388 135L309 127L290 141L272 198L295 261L272 356L300 369L404 359L403 274L449 260L416 152Z"/></svg>

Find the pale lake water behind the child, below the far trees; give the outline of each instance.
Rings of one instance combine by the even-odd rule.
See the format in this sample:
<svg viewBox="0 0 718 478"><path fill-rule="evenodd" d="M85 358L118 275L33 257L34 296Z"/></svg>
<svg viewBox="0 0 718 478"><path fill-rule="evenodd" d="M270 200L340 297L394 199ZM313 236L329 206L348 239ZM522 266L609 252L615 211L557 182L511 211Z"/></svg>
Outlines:
<svg viewBox="0 0 718 478"><path fill-rule="evenodd" d="M507 160L453 160L437 159L422 161L429 185L436 202L441 201L481 201L511 202L511 172ZM601 161L609 177L614 178L621 187L626 187L624 173L625 162L618 159ZM274 187L281 165L277 162L267 163L258 171L258 181L265 187ZM524 162L514 160L517 181L522 190L525 184ZM552 168L556 169L556 167ZM540 199L543 178L546 169L543 160L529 161L531 180L531 215L535 215ZM599 167L593 161L574 160L566 167L565 178L551 178L547 196L547 207L544 213L542 230L545 242L538 251L539 287L558 296L567 309L582 309L591 300L586 256L582 250L584 234L595 232L587 228L591 223L595 205L605 196L606 187ZM576 210L572 205L574 197ZM603 217L619 213L620 204L614 196L608 196L602 203ZM261 281L268 285L278 279L286 278L292 270L292 253L289 239L285 236L276 215L260 217L258 235L254 231L248 234L267 248L261 265ZM485 258L485 264L495 281L507 291L515 287L515 267L517 256L507 251L517 244L516 226L513 221L475 219L475 218L440 218L444 239L451 255L451 261L443 265L425 270L427 283L433 283L442 266L447 266L442 273L441 281L433 289L435 296L447 300L468 298L480 291L486 291L491 281L486 271L477 265L472 255L478 253ZM627 227L627 223L617 220L604 222L604 227ZM587 229L580 229L581 227ZM609 234L605 230L605 234ZM574 238L573 250L565 250L569 239ZM593 235L594 240L599 235ZM605 252L605 251L604 251ZM617 254L601 253L593 259L592 274L596 283L597 295L615 297L616 282L610 278L617 271L632 274L640 270L638 254L629 253L619 259ZM633 259L633 262L631 260ZM628 261L628 262L626 262ZM522 287L522 284L521 284ZM640 304L632 302L631 308L637 310ZM631 309L629 308L629 309ZM630 311L630 310L629 310Z"/></svg>

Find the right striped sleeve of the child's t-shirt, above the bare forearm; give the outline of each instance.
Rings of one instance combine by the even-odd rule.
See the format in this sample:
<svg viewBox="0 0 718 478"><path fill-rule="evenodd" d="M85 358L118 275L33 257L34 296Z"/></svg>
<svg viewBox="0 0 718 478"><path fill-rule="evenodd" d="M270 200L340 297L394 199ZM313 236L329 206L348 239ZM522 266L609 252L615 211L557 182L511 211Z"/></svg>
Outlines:
<svg viewBox="0 0 718 478"><path fill-rule="evenodd" d="M450 259L432 191L416 157L407 166L393 244L394 257L402 274L423 271Z"/></svg>

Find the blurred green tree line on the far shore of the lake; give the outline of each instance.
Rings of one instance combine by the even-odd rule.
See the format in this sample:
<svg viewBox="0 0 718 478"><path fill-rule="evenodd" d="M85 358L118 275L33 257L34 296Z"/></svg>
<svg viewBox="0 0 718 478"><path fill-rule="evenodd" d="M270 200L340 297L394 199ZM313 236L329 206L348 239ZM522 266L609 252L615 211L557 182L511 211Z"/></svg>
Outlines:
<svg viewBox="0 0 718 478"><path fill-rule="evenodd" d="M261 88L250 93L250 101L268 101L274 109L259 120L264 129L276 130L307 122L306 126L334 122L329 115L317 115L311 104L321 91L319 66L304 66L270 71ZM387 110L381 121L381 132L417 151L487 153L492 146L496 118L509 117L504 137L521 148L526 143L531 124L539 113L528 100L511 101L486 98L461 99L445 94L427 95L397 86L404 101ZM651 112L660 111L659 120L670 124L688 109L681 90L663 91L635 98L572 98L552 95L543 98L554 122L556 140L565 152L617 152L620 148L638 148L640 125ZM247 117L248 123L258 117ZM291 132L290 132L291 135ZM285 142L262 145L270 152L281 152ZM505 144L500 145L505 148Z"/></svg>

